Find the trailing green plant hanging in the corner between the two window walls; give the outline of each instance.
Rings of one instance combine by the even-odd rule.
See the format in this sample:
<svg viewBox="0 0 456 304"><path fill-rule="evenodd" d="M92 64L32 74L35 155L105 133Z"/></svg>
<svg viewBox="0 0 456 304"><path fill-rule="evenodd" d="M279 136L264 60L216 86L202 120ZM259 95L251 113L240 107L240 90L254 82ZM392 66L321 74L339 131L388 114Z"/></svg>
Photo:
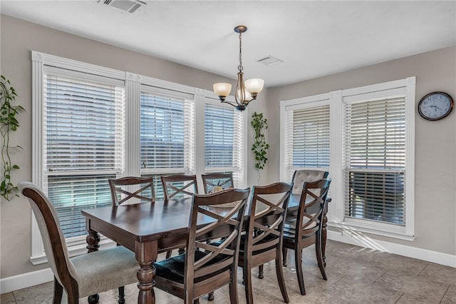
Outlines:
<svg viewBox="0 0 456 304"><path fill-rule="evenodd" d="M264 131L268 128L268 120L264 118L263 113L254 112L252 115L252 123L254 128L254 143L252 144L252 151L255 154L255 168L258 170L258 178L261 178L260 170L264 169L268 161L267 152L269 143L266 143L266 136Z"/></svg>

